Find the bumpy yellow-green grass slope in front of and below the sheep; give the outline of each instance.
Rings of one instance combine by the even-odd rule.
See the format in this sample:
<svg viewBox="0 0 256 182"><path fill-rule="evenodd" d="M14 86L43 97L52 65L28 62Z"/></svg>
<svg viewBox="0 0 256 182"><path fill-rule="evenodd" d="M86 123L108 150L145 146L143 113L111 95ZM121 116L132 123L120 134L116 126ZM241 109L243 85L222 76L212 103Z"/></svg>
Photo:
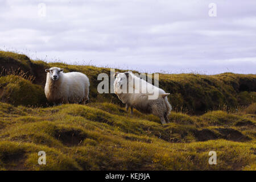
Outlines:
<svg viewBox="0 0 256 182"><path fill-rule="evenodd" d="M172 113L161 125L109 103L33 109L0 102L0 111L2 169L255 170L255 120L236 126L243 115ZM229 121L213 125L221 114ZM38 164L39 151L46 151L46 165Z"/></svg>

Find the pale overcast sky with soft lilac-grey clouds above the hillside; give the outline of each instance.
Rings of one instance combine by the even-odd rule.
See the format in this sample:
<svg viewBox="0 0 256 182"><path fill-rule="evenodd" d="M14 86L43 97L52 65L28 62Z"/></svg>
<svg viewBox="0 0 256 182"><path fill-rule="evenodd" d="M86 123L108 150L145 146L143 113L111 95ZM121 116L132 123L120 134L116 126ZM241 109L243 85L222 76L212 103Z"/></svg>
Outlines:
<svg viewBox="0 0 256 182"><path fill-rule="evenodd" d="M210 3L217 16L209 16ZM0 49L31 59L142 72L256 73L255 0L0 0L0 5Z"/></svg>

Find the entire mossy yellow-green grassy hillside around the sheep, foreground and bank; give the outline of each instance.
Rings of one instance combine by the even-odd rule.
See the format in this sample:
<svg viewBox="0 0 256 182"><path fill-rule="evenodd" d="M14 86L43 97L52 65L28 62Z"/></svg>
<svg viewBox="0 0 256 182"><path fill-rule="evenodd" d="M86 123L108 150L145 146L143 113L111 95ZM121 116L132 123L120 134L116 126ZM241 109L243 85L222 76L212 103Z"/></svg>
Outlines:
<svg viewBox="0 0 256 182"><path fill-rule="evenodd" d="M1 170L256 169L255 75L160 74L175 110L161 125L154 115L126 113L114 94L97 93L97 75L108 68L1 51L0 66ZM88 75L88 104L47 102L44 69L53 66ZM39 151L46 165L38 164ZM217 165L208 164L209 151Z"/></svg>

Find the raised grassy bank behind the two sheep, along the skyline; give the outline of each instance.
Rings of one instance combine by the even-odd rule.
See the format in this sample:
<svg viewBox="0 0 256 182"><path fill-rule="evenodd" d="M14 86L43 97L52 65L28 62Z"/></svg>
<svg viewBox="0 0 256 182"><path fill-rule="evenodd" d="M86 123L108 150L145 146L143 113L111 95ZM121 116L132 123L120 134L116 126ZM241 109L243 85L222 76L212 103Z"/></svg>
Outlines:
<svg viewBox="0 0 256 182"><path fill-rule="evenodd" d="M32 83L43 88L46 81L44 70L50 67L64 68L64 72L78 71L85 73L90 79L90 99L92 102L120 104L114 94L99 94L97 92L97 85L101 82L97 80L97 76L100 73L110 75L109 68L63 63L47 64L44 61L30 60L26 55L0 51L2 76L13 73L24 75L25 78L32 76L34 78ZM0 89L3 88L2 85L4 84L0 85ZM9 84L9 82L6 84ZM217 109L236 110L256 102L256 75L234 73L222 73L220 75L160 74L159 87L171 93L168 100L175 111L184 111L190 114L203 114L208 110ZM3 101L0 95L1 100ZM12 101L9 102L6 99L4 101L13 104ZM42 98L38 105L45 106L46 101Z"/></svg>

